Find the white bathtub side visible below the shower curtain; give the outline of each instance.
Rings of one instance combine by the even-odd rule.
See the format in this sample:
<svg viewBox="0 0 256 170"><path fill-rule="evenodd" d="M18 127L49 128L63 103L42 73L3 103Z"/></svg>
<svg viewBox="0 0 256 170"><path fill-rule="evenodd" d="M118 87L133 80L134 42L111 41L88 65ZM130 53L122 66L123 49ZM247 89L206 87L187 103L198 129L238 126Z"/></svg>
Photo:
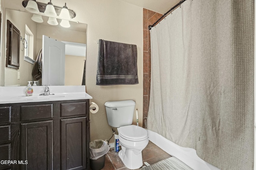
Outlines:
<svg viewBox="0 0 256 170"><path fill-rule="evenodd" d="M178 158L193 170L220 170L216 166L213 166L199 158L195 149L180 147L172 141L164 138L162 135L150 130L148 130L148 138L152 143L168 154Z"/></svg>

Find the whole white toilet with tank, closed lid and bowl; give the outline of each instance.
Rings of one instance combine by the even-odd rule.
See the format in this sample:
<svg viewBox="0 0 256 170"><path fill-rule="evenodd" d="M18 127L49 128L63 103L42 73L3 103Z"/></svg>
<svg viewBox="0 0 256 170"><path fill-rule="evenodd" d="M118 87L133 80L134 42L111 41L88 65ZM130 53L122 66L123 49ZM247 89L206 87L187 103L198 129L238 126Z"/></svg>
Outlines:
<svg viewBox="0 0 256 170"><path fill-rule="evenodd" d="M118 156L127 168L140 168L143 165L142 150L148 145L148 132L142 127L132 125L135 102L106 102L105 107L108 124L118 130L119 143L122 146Z"/></svg>

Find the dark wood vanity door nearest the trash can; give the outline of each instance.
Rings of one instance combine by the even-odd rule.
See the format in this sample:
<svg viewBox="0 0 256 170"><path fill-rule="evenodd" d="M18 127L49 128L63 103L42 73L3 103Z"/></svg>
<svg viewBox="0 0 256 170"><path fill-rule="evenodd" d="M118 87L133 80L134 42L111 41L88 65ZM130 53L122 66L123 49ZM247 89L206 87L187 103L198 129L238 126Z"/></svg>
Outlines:
<svg viewBox="0 0 256 170"><path fill-rule="evenodd" d="M62 170L86 169L86 117L61 119Z"/></svg>

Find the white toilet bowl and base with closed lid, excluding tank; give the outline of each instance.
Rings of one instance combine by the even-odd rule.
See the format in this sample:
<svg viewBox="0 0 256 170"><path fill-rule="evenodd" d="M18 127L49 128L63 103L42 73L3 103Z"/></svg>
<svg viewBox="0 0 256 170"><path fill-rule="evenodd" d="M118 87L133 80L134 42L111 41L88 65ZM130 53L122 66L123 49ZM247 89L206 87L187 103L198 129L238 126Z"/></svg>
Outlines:
<svg viewBox="0 0 256 170"><path fill-rule="evenodd" d="M148 145L148 132L146 129L127 125L118 128L119 142L122 149L118 156L129 169L138 169L143 165L142 150Z"/></svg>

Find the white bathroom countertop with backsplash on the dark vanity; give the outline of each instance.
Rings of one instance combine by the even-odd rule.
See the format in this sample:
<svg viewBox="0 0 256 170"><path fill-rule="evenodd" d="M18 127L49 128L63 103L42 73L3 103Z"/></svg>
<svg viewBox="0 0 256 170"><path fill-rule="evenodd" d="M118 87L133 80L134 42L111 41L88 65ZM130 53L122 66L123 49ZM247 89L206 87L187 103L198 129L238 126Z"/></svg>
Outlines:
<svg viewBox="0 0 256 170"><path fill-rule="evenodd" d="M0 104L92 99L92 96L85 92L85 86L48 87L50 93L54 95L40 96L44 93L44 86L32 86L34 91L32 96L26 96L26 86L0 87Z"/></svg>

